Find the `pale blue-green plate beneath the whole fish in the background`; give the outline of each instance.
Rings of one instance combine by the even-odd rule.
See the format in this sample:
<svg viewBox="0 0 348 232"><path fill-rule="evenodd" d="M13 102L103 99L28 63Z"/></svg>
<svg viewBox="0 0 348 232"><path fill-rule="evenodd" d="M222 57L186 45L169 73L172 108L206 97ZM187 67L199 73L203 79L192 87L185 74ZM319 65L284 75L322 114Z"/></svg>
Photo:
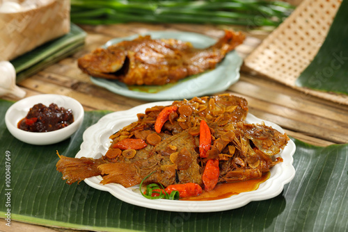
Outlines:
<svg viewBox="0 0 348 232"><path fill-rule="evenodd" d="M193 47L200 49L209 47L216 42L216 40L206 35L189 32L152 31L144 33L143 35L151 35L151 38L155 39L174 38L177 40L191 42ZM138 36L139 35L132 35L126 38L116 38L110 40L109 42L106 42L104 48L123 40L134 40ZM184 78L172 85L170 88L163 88L163 90L155 93L129 90L129 87L120 81L95 77L90 77L90 80L96 85L100 85L111 92L135 99L142 99L146 101L191 99L193 97L200 97L227 90L230 85L239 80L239 68L242 63L243 60L240 56L238 56L237 51L231 51L226 55L221 63L216 65L215 69L203 74L199 74L194 78ZM151 87L145 88L149 91L152 90Z"/></svg>

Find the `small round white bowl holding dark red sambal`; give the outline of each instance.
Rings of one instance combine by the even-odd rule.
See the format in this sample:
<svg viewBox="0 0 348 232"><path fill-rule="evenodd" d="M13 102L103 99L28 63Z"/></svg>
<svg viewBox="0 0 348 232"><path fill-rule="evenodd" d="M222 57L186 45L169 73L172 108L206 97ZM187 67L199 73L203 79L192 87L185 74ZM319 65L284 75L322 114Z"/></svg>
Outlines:
<svg viewBox="0 0 348 232"><path fill-rule="evenodd" d="M56 103L58 107L71 109L74 115L74 122L67 127L49 132L29 132L18 129L18 122L26 117L30 108L35 104L42 103L49 106L51 103ZM79 101L71 97L58 94L39 94L32 97L26 97L14 103L8 108L5 115L5 122L8 131L18 140L34 145L47 145L61 142L69 138L79 127L84 120L84 108Z"/></svg>

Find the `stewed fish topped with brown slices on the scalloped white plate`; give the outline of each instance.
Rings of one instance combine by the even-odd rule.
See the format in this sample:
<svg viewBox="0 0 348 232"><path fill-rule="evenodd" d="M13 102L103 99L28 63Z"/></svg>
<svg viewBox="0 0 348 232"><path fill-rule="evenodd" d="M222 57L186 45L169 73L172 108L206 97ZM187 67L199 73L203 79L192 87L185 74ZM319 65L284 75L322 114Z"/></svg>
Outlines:
<svg viewBox="0 0 348 232"><path fill-rule="evenodd" d="M168 109L159 131L157 121ZM247 113L246 100L231 94L154 106L139 113L138 121L111 135L109 151L102 158L60 156L56 167L69 184L101 175L103 184L130 187L152 173L145 184L203 186L205 165L218 160L219 183L258 179L282 162L273 156L289 138L270 126L246 123ZM200 156L203 120L211 138L205 157Z"/></svg>

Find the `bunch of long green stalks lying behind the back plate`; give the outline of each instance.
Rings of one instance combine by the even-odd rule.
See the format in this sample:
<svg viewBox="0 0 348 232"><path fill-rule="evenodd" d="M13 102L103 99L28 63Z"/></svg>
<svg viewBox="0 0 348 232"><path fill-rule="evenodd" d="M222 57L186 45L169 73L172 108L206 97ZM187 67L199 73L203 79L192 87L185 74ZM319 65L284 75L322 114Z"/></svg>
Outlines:
<svg viewBox="0 0 348 232"><path fill-rule="evenodd" d="M71 0L70 17L79 24L120 22L278 26L294 9L260 0Z"/></svg>

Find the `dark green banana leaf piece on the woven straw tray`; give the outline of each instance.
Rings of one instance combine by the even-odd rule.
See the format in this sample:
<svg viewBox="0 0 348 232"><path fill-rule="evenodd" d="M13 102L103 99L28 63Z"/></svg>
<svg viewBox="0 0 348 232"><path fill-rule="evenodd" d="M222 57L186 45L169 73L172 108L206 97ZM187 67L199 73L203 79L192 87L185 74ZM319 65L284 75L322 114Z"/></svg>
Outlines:
<svg viewBox="0 0 348 232"><path fill-rule="evenodd" d="M296 85L348 94L348 0L343 0L322 47Z"/></svg>

